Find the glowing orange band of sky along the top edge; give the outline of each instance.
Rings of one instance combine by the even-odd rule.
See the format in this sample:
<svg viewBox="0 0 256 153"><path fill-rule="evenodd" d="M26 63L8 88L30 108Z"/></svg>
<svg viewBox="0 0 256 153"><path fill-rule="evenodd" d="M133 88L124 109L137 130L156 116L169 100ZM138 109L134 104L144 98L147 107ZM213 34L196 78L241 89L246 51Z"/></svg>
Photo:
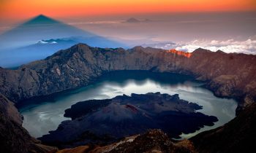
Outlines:
<svg viewBox="0 0 256 153"><path fill-rule="evenodd" d="M0 20L44 14L51 17L143 12L256 10L255 0L0 0Z"/></svg>

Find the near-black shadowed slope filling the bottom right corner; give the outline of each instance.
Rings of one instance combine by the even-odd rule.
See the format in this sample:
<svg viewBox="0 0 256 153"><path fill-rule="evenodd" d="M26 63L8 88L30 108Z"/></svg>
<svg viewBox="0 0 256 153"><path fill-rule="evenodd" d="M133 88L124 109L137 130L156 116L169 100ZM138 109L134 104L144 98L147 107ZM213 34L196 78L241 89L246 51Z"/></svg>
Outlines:
<svg viewBox="0 0 256 153"><path fill-rule="evenodd" d="M256 103L226 125L192 137L198 152L255 152Z"/></svg>

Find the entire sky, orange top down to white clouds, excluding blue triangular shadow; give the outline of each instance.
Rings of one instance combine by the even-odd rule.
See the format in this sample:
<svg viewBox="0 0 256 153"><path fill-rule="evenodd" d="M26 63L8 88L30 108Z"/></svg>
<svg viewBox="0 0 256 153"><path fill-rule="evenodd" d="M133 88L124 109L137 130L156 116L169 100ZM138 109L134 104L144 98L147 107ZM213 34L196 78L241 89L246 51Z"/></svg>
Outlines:
<svg viewBox="0 0 256 153"><path fill-rule="evenodd" d="M255 0L0 0L0 37L37 15L131 47L256 54Z"/></svg>

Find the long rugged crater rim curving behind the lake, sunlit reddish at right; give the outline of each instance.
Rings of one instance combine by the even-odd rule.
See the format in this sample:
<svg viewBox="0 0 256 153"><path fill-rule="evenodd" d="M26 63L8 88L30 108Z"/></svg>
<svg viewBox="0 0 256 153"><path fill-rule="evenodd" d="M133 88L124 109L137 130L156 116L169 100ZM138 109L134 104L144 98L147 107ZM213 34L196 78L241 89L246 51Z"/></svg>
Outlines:
<svg viewBox="0 0 256 153"><path fill-rule="evenodd" d="M256 101L256 56L197 49L189 56L177 52L134 47L103 49L77 44L45 60L0 68L0 92L14 102L88 85L108 71L174 72L206 81L215 95L238 98L238 111Z"/></svg>

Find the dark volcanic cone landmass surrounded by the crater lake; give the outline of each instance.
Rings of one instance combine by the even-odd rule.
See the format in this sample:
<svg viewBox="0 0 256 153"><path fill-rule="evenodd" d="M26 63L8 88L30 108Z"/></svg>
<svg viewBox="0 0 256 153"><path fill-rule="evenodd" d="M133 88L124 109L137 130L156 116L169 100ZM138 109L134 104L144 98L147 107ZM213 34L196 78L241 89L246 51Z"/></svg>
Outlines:
<svg viewBox="0 0 256 153"><path fill-rule="evenodd" d="M62 122L57 130L39 139L61 148L109 144L155 128L177 138L181 133L195 132L199 127L213 125L218 120L217 117L195 112L197 109L202 107L181 100L178 95L161 93L83 101L65 111L65 116L72 117L72 121Z"/></svg>

